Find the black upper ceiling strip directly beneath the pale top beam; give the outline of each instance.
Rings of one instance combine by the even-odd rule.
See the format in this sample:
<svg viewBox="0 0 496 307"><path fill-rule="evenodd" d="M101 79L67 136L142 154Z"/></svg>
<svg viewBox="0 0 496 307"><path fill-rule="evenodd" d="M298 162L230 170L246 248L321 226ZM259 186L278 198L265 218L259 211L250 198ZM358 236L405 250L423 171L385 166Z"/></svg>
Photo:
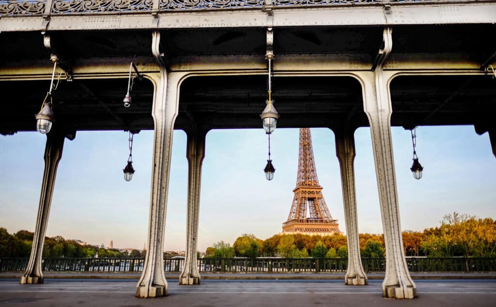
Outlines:
<svg viewBox="0 0 496 307"><path fill-rule="evenodd" d="M496 51L494 24L393 27L392 56L466 54L484 62ZM151 56L151 31L51 31L51 45L63 58ZM265 54L264 28L189 28L161 31L168 59L183 56ZM372 64L382 42L382 27L282 27L274 29L276 56L362 54ZM0 63L49 59L40 32L0 33ZM277 58L276 58L277 61Z"/></svg>

